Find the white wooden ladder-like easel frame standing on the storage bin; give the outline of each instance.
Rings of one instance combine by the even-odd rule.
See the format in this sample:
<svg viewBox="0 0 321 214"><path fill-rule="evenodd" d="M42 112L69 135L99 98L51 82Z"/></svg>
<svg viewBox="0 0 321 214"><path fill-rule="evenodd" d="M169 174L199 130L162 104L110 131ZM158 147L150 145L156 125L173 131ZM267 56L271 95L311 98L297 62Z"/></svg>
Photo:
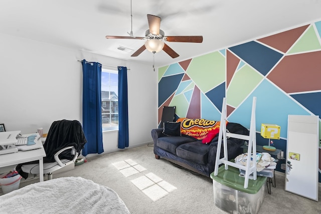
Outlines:
<svg viewBox="0 0 321 214"><path fill-rule="evenodd" d="M255 130L255 105L256 105L256 97L253 97L253 103L252 103L252 113L251 113L251 124L250 124L250 135L242 135L242 134L234 134L226 132L226 98L223 98L223 105L222 105L222 115L221 115L221 125L220 125L220 132L219 132L219 138L217 143L217 151L216 151L216 160L215 160L215 168L214 168L214 176L217 176L219 165L221 163L224 163L225 170L228 169L228 166L233 166L235 168L243 169L245 170L245 180L244 180L244 188L248 187L249 183L249 175L253 173L253 179L256 180L256 164L253 164L253 166L250 166L250 160L251 160L251 151L253 153L253 162L256 163L256 130ZM248 150L247 150L247 160L246 160L246 166L243 166L241 164L234 163L232 161L228 160L228 153L227 153L227 137L233 137L237 139L243 139L248 141ZM224 149L224 157L220 158L221 154L221 145L223 138L223 149ZM252 150L253 149L253 150Z"/></svg>

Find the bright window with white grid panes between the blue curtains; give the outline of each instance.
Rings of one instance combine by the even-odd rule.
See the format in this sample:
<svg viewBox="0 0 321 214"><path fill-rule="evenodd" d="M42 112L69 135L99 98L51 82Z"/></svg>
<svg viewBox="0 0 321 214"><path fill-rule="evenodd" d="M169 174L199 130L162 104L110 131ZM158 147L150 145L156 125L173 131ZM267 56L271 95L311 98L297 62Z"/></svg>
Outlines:
<svg viewBox="0 0 321 214"><path fill-rule="evenodd" d="M101 70L102 130L118 129L118 71Z"/></svg>

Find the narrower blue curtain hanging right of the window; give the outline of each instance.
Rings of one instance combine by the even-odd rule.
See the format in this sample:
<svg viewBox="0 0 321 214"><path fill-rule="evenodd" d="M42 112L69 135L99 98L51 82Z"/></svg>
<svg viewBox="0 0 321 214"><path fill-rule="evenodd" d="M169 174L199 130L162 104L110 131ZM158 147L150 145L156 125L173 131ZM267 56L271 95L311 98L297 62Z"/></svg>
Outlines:
<svg viewBox="0 0 321 214"><path fill-rule="evenodd" d="M118 148L128 147L127 68L118 67Z"/></svg>

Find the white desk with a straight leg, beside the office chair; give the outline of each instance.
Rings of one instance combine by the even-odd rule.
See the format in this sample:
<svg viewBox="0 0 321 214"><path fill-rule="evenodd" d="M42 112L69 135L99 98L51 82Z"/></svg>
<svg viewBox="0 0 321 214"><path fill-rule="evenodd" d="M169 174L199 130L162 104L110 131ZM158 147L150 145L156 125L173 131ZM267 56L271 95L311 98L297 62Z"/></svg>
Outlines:
<svg viewBox="0 0 321 214"><path fill-rule="evenodd" d="M37 144L42 142L40 139L36 142ZM44 161L43 157L46 156L44 147L28 151L21 151L9 154L0 155L0 168L5 166L11 166L19 163L39 160L39 177L40 181L44 181Z"/></svg>

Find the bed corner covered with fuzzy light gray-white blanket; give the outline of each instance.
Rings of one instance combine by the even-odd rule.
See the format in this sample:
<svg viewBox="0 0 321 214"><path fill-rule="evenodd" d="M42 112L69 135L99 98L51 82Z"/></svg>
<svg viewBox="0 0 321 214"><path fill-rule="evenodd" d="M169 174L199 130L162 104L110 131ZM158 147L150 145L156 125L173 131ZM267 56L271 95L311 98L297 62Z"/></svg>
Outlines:
<svg viewBox="0 0 321 214"><path fill-rule="evenodd" d="M0 196L0 213L129 213L118 194L82 177L61 177Z"/></svg>

